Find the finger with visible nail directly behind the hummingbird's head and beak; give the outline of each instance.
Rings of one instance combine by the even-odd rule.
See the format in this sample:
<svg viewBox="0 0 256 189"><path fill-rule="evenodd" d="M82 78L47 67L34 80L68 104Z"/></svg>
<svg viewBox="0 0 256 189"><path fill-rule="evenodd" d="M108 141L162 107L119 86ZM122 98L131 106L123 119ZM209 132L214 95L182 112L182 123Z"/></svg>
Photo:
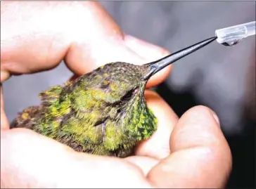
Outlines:
<svg viewBox="0 0 256 189"><path fill-rule="evenodd" d="M98 44L90 44L90 50L88 50L88 46L84 44L75 44L72 46L65 58L70 70L81 75L85 72L91 72L96 67L105 65L106 63L125 62L134 65L143 65L169 54L169 52L163 48L134 37L127 37L126 35L124 35L124 39L121 41L105 40L106 39L101 40L101 46L98 46ZM151 56L147 56L146 52L152 52ZM171 70L172 65L169 65L153 75L146 84L146 87L149 88L163 82L168 77Z"/></svg>

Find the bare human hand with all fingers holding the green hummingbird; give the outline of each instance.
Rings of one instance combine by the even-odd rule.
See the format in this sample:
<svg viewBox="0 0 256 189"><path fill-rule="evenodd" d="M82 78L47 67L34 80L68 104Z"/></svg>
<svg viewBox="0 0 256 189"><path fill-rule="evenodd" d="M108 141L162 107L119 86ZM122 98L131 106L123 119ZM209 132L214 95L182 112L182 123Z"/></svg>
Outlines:
<svg viewBox="0 0 256 189"><path fill-rule="evenodd" d="M105 63L143 64L168 53L124 34L96 2L1 2L1 82L53 69L63 59L81 75ZM1 91L1 188L223 188L231 152L215 112L196 106L179 118L157 93L146 90L146 101L158 130L134 156L119 159L75 152L28 129L10 130Z"/></svg>

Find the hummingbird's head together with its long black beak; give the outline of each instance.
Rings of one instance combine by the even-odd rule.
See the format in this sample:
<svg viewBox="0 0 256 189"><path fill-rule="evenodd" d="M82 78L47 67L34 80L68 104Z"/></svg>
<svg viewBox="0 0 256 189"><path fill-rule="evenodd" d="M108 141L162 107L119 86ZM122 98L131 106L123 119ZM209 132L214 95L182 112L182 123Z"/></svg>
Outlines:
<svg viewBox="0 0 256 189"><path fill-rule="evenodd" d="M122 62L108 63L98 67L93 72L85 74L84 77L79 79L81 82L77 82L77 84L82 91L86 91L84 96L91 96L92 98L89 99L103 102L105 106L122 105L135 97L138 97L136 99L143 99L146 83L155 73L210 44L216 38L212 37L200 41L198 44L145 65Z"/></svg>

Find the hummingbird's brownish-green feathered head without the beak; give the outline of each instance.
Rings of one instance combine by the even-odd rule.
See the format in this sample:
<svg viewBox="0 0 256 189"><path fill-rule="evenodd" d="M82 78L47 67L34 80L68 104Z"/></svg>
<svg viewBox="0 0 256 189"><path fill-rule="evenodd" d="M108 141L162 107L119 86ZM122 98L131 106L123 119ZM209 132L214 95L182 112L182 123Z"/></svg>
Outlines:
<svg viewBox="0 0 256 189"><path fill-rule="evenodd" d="M144 79L149 67L130 63L108 63L89 73L91 88L104 93L102 98L107 103L131 100L136 95L143 95L148 79ZM87 86L88 87L88 86Z"/></svg>

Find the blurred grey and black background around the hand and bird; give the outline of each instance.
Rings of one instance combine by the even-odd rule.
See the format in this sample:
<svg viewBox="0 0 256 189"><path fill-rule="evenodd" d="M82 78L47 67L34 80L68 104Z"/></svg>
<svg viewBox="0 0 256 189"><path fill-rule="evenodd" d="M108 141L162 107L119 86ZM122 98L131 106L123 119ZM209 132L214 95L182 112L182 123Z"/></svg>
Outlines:
<svg viewBox="0 0 256 189"><path fill-rule="evenodd" d="M212 37L217 29L255 20L255 1L101 4L124 32L171 52ZM9 79L4 83L8 119L12 120L28 105L38 104L40 91L63 84L70 76L60 64L49 72ZM233 47L214 42L179 60L157 91L179 116L194 105L215 110L233 154L228 188L255 188L255 36Z"/></svg>

